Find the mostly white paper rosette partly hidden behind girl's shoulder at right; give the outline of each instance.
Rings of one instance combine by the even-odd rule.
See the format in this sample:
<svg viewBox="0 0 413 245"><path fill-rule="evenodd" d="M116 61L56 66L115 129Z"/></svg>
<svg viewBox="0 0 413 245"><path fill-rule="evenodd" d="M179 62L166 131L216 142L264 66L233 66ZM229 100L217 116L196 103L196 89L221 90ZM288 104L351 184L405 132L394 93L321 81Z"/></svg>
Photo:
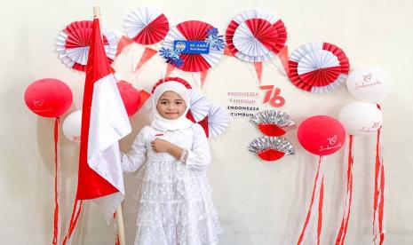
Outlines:
<svg viewBox="0 0 413 245"><path fill-rule="evenodd" d="M198 122L203 126L207 138L223 133L229 125L229 117L222 107L211 105L208 115Z"/></svg>

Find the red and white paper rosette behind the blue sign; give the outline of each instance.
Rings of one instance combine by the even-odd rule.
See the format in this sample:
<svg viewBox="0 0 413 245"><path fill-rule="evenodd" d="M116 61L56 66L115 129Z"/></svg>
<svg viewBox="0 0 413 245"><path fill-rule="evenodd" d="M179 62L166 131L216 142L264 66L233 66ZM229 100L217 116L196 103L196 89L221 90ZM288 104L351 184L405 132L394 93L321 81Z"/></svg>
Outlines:
<svg viewBox="0 0 413 245"><path fill-rule="evenodd" d="M179 23L175 28L171 28L163 42L163 48L173 50L175 40L204 41L212 27L210 24L199 20L189 20ZM183 65L179 69L187 72L203 72L218 64L224 55L224 50L218 50L210 46L210 53L182 53Z"/></svg>

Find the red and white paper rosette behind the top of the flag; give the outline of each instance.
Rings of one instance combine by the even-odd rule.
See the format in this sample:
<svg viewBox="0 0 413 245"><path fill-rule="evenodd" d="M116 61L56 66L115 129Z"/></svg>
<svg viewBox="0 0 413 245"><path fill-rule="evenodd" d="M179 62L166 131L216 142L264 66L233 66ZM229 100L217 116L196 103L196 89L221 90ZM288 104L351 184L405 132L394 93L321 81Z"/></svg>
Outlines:
<svg viewBox="0 0 413 245"><path fill-rule="evenodd" d="M75 21L60 32L57 51L66 66L79 71L86 69L91 45L91 25L91 20ZM109 63L115 59L118 42L119 38L114 31L103 28L103 44Z"/></svg>

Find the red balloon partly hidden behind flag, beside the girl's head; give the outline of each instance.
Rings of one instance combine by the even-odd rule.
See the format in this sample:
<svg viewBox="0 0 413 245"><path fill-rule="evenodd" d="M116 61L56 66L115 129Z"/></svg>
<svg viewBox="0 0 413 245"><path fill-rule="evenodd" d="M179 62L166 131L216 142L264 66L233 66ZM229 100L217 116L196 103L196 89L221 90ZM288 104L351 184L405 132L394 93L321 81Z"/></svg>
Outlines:
<svg viewBox="0 0 413 245"><path fill-rule="evenodd" d="M131 83L124 81L117 83L117 88L121 93L123 105L126 108L126 113L129 116L134 115L138 111L140 105L139 91L133 88Z"/></svg>

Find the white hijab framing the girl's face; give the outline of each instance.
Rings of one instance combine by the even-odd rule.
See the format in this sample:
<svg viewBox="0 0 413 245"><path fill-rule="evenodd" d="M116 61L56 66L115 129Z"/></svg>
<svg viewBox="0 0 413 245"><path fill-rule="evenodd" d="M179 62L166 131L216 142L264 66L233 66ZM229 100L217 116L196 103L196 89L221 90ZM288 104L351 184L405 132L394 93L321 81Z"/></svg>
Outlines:
<svg viewBox="0 0 413 245"><path fill-rule="evenodd" d="M158 113L156 109L156 104L158 103L158 99L165 91L173 91L179 94L182 99L184 99L187 108L185 109L185 113L179 118L170 120L163 118L162 115ZM182 130L189 128L193 123L191 120L187 119L187 112L189 110L189 91L187 87L178 82L165 82L159 84L152 95L152 111L154 113L154 121L151 124L151 127L155 130L160 131L171 131L171 130Z"/></svg>

